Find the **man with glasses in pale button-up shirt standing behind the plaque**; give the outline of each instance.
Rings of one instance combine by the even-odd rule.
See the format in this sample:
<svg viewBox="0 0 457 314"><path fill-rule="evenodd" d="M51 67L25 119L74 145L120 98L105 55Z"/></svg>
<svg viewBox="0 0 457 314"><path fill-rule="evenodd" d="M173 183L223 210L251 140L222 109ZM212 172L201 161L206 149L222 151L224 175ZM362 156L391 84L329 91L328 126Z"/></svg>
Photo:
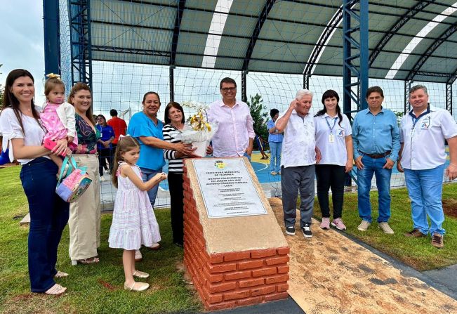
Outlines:
<svg viewBox="0 0 457 314"><path fill-rule="evenodd" d="M249 107L237 100L237 83L230 77L220 81L220 94L222 100L211 103L208 110L208 121L218 124L212 140L213 156L251 159L256 134Z"/></svg>

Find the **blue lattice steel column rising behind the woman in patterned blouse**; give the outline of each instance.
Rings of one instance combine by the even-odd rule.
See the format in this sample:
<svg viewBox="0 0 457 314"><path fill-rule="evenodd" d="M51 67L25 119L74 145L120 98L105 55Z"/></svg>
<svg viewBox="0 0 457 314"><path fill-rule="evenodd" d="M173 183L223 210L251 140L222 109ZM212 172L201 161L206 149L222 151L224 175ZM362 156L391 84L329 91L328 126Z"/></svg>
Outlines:
<svg viewBox="0 0 457 314"><path fill-rule="evenodd" d="M72 85L78 81L92 85L90 0L69 0L69 30L72 51Z"/></svg>

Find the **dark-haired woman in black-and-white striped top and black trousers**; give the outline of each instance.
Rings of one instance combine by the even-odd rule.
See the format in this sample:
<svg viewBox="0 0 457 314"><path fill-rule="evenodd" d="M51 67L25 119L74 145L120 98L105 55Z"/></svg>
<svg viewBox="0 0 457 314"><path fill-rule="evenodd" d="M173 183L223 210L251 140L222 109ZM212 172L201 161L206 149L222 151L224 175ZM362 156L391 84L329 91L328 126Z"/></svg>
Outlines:
<svg viewBox="0 0 457 314"><path fill-rule="evenodd" d="M184 124L184 110L180 104L171 101L165 107L165 126L162 129L164 140L170 143L179 143L171 136L173 131L183 131L190 126ZM194 157L184 155L176 150L164 149L164 158L168 159L168 187L171 199L171 230L173 242L183 247L183 158Z"/></svg>

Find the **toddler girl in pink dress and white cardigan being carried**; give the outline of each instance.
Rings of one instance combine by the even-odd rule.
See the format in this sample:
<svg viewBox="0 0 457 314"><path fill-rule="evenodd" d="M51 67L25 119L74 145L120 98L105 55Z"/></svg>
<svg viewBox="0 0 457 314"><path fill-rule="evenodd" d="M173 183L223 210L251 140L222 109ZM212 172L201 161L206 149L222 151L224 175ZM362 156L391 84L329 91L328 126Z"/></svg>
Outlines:
<svg viewBox="0 0 457 314"><path fill-rule="evenodd" d="M40 113L40 119L48 133L44 136L43 143L46 143L46 140L55 142L65 138L69 143L69 148L76 148L78 137L74 120L74 107L65 102L65 84L60 80L58 74L51 73L46 77L48 77L44 83L46 103L44 103ZM49 157L59 166L60 170L62 159L53 154Z"/></svg>

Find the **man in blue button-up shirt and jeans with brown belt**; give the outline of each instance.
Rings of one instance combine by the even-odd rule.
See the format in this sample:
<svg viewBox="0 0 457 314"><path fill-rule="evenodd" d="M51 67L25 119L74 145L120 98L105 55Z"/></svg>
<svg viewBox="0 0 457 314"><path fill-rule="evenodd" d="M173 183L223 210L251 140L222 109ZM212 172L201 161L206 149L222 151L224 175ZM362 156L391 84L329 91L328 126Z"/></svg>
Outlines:
<svg viewBox="0 0 457 314"><path fill-rule="evenodd" d="M366 91L368 109L357 113L352 124L354 160L357 166L359 185L359 216L362 218L357 229L366 231L371 225L370 189L373 174L378 188L378 227L384 233L393 234L390 218L390 176L397 161L400 136L397 117L391 110L383 108L384 93L379 86Z"/></svg>

